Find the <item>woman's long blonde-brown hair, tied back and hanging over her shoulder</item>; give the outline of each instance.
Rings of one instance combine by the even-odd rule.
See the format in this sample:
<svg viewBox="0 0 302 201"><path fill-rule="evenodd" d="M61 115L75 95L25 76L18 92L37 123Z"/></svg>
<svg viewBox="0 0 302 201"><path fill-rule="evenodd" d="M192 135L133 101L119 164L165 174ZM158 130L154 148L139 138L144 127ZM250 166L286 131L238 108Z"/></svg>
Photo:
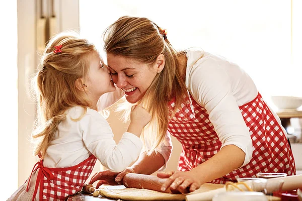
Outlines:
<svg viewBox="0 0 302 201"><path fill-rule="evenodd" d="M121 55L150 66L160 54L165 56L164 69L155 76L139 100L152 116L152 121L141 135L144 147L148 148L146 150L150 154L165 139L169 116L173 114L168 108L169 100L175 97L174 109L177 110L187 95L179 67L179 58L184 56L184 52L177 52L163 35L162 29L147 18L121 17L105 30L103 38L107 54Z"/></svg>

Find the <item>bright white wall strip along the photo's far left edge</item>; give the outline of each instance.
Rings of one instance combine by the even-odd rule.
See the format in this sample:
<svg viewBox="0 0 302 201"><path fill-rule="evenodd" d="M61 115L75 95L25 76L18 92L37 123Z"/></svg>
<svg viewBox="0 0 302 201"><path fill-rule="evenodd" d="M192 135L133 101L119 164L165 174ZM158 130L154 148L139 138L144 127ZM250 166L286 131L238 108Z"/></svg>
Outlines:
<svg viewBox="0 0 302 201"><path fill-rule="evenodd" d="M18 69L17 69L17 1L0 2L1 25L1 141L0 200L6 200L18 180Z"/></svg>

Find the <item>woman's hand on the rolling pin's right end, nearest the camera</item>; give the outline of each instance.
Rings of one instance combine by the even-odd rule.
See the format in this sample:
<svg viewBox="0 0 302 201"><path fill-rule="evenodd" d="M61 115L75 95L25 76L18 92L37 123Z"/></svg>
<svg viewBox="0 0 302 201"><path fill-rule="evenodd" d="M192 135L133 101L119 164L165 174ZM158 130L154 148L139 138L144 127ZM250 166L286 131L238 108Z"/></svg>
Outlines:
<svg viewBox="0 0 302 201"><path fill-rule="evenodd" d="M157 176L160 178L168 178L167 181L162 185L161 190L165 191L170 187L171 191L180 191L181 193L189 193L200 188L201 182L198 177L192 172L159 172Z"/></svg>

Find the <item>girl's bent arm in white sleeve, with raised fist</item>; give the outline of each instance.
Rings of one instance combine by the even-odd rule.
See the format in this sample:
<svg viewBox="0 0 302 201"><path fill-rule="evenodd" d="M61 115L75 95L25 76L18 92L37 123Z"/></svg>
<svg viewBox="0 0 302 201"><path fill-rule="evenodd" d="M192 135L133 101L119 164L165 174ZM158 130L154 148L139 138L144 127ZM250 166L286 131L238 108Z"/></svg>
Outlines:
<svg viewBox="0 0 302 201"><path fill-rule="evenodd" d="M134 114L133 114L134 113ZM88 109L87 114L79 121L82 139L88 151L99 161L115 172L124 170L135 161L142 148L139 135L150 117L148 113L137 106L131 113L131 128L125 132L116 144L108 122L95 110ZM129 127L130 127L129 125Z"/></svg>

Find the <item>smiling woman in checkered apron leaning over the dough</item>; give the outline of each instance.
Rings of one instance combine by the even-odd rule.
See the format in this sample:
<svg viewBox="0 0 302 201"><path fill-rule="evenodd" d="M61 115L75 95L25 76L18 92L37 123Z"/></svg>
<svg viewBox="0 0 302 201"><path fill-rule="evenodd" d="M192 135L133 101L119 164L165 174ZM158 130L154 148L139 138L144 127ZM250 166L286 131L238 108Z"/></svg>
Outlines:
<svg viewBox="0 0 302 201"><path fill-rule="evenodd" d="M118 184L128 172L151 174L168 161L170 134L182 143L178 171L158 173L185 192L258 172L295 174L280 119L235 63L190 48L177 52L165 30L146 18L122 17L104 35L112 79L129 103L152 116L138 161L121 173L99 172L91 183Z"/></svg>

